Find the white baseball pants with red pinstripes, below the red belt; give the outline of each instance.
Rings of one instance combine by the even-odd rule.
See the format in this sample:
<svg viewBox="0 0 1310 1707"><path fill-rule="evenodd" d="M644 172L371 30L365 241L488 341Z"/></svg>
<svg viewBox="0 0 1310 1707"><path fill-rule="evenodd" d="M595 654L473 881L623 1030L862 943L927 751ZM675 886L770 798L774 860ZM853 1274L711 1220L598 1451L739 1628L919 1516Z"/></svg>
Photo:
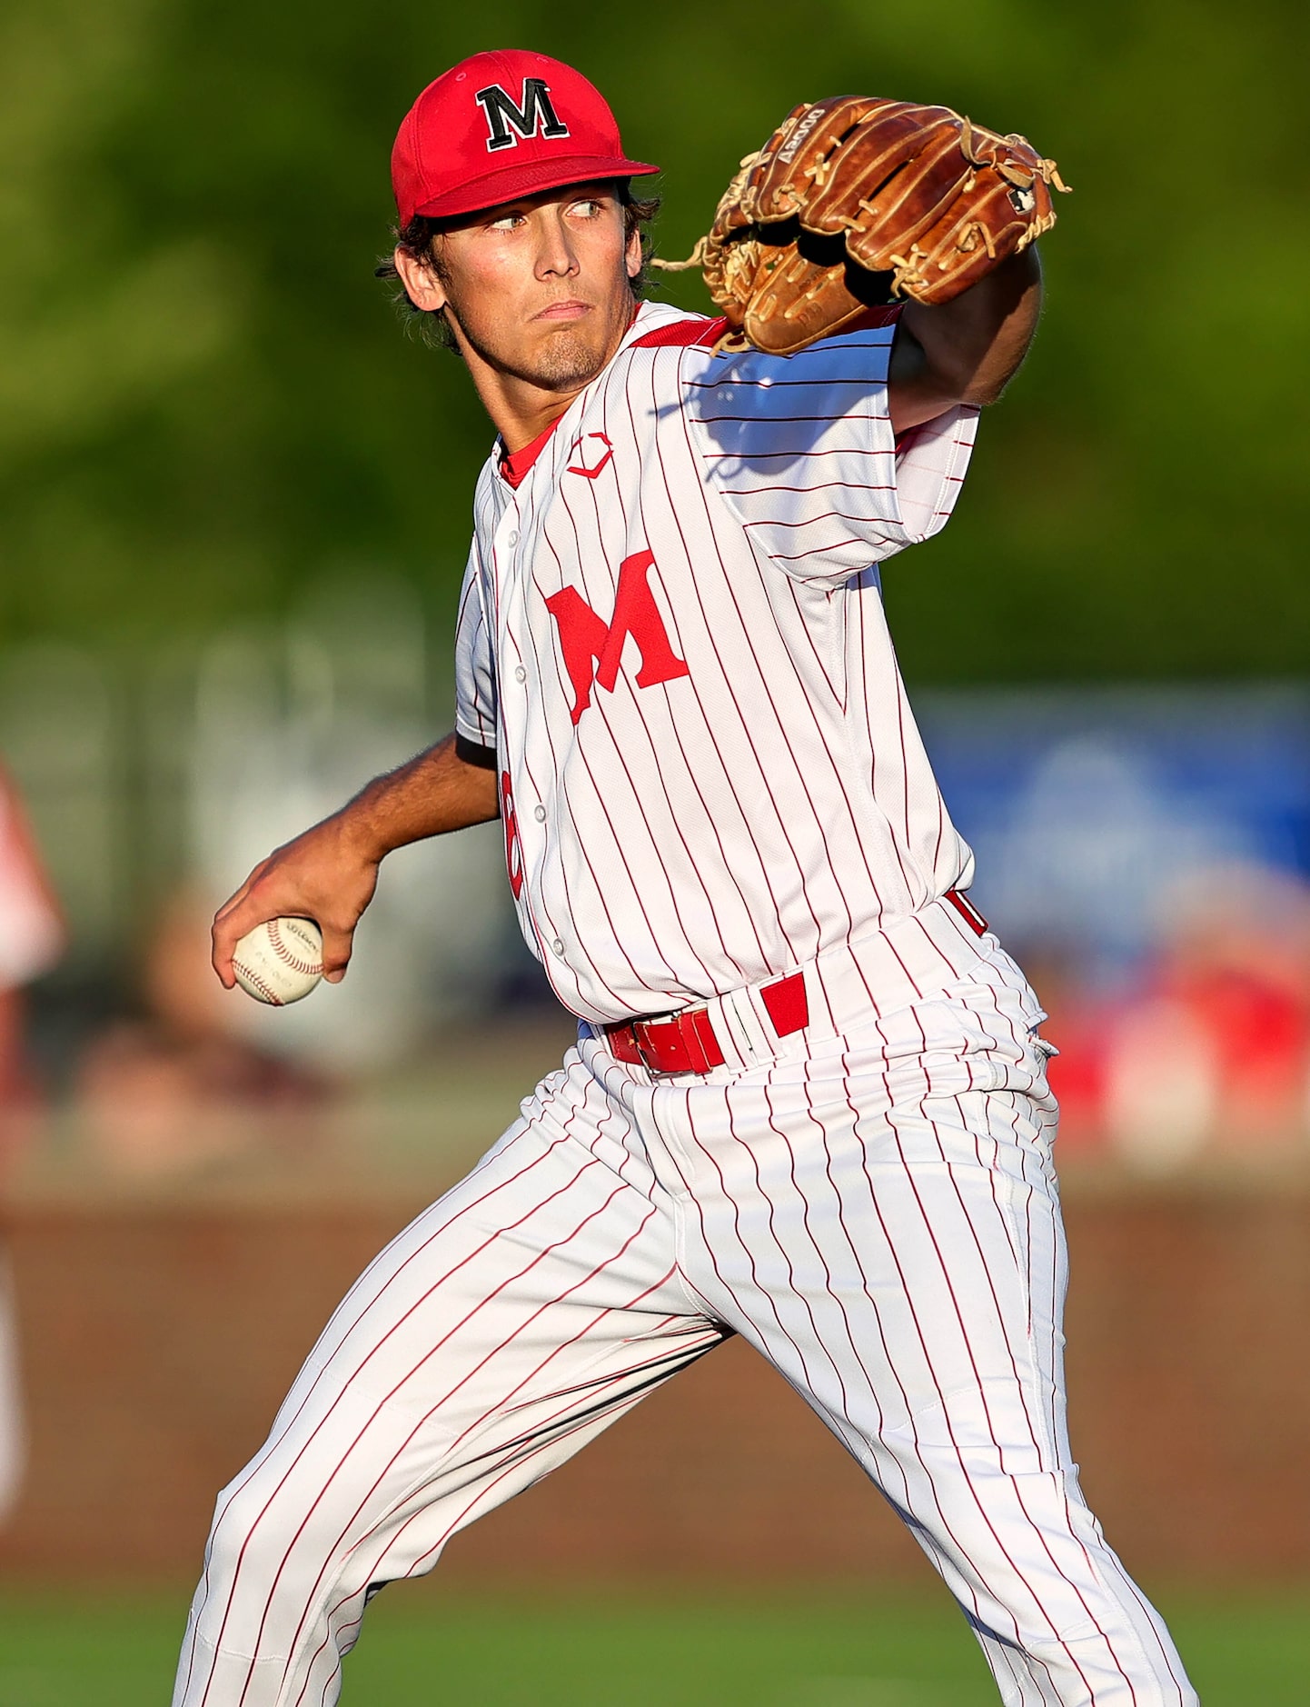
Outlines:
<svg viewBox="0 0 1310 1707"><path fill-rule="evenodd" d="M752 1070L590 1040L355 1284L218 1497L174 1707L328 1707L432 1569L737 1330L909 1524L1008 1707L1194 1707L1064 1432L1040 1017L1013 963Z"/></svg>

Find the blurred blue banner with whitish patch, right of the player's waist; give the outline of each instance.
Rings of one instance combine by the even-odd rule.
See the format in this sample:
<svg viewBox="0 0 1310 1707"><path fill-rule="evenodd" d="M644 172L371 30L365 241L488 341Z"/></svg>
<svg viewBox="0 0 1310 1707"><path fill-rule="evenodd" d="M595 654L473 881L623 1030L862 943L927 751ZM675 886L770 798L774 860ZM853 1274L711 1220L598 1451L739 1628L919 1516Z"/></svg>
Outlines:
<svg viewBox="0 0 1310 1707"><path fill-rule="evenodd" d="M1114 987L1180 886L1310 876L1307 688L950 691L916 712L977 859L972 900L1020 956Z"/></svg>

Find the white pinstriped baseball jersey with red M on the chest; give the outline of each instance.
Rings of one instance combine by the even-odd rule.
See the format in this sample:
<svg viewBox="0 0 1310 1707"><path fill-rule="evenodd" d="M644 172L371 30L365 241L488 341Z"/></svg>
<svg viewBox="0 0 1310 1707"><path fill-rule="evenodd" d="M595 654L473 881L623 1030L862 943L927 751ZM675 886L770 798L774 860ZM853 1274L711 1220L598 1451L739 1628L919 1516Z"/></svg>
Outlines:
<svg viewBox="0 0 1310 1707"><path fill-rule="evenodd" d="M457 729L496 749L524 935L599 1022L972 877L877 565L945 524L977 411L897 452L892 324L785 358L643 345L686 319L640 309L517 490L488 461L461 599Z"/></svg>

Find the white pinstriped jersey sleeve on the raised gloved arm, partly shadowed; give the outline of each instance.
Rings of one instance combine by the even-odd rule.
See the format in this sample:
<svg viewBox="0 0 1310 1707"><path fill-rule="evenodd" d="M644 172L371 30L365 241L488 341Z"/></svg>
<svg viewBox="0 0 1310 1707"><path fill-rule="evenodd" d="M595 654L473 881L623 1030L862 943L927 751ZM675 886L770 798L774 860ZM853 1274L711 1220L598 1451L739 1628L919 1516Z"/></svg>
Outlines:
<svg viewBox="0 0 1310 1707"><path fill-rule="evenodd" d="M826 338L790 357L711 357L686 384L710 483L756 553L797 580L839 586L931 538L955 505L977 410L948 410L897 449L894 331Z"/></svg>

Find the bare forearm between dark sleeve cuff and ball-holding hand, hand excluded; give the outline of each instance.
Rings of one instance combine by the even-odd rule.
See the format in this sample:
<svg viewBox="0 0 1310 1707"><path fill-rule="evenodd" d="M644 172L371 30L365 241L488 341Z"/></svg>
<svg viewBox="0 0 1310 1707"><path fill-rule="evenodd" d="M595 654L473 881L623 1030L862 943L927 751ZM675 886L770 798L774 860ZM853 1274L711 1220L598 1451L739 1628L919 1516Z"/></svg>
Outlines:
<svg viewBox="0 0 1310 1707"><path fill-rule="evenodd" d="M498 814L496 773L467 765L455 736L375 777L338 814L343 835L370 860L394 848L483 824Z"/></svg>

